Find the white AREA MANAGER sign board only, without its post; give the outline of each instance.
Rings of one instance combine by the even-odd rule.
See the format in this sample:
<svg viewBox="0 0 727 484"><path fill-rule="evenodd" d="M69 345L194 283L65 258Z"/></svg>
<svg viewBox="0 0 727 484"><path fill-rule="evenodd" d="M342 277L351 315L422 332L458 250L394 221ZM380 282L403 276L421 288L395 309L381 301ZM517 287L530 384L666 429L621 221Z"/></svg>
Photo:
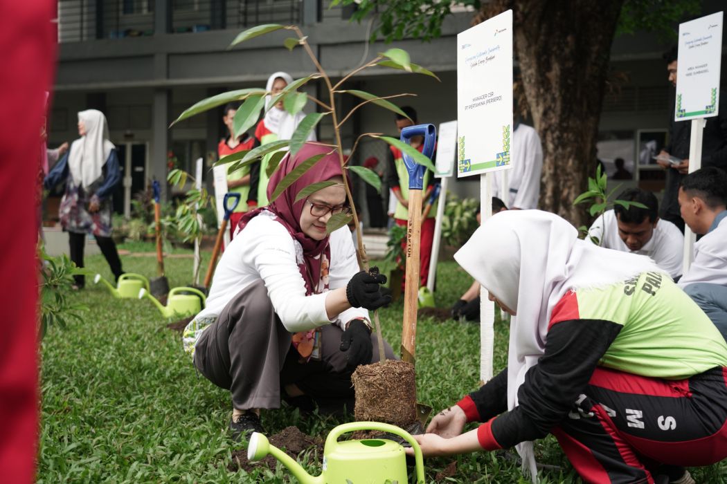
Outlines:
<svg viewBox="0 0 727 484"><path fill-rule="evenodd" d="M718 115L723 12L679 25L674 120Z"/></svg>

